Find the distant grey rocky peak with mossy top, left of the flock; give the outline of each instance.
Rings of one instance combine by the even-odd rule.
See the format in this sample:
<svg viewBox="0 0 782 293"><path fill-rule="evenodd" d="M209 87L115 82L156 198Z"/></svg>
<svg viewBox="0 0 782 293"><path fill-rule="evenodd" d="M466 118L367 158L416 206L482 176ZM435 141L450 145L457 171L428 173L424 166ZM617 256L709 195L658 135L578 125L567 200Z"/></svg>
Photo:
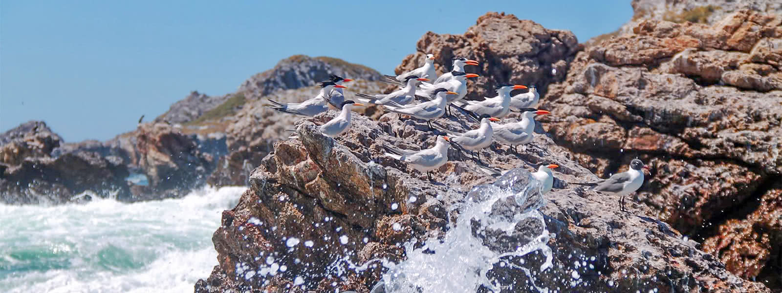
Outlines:
<svg viewBox="0 0 782 293"><path fill-rule="evenodd" d="M242 83L239 92L258 98L274 91L305 88L328 80L329 74L353 80L379 80L380 73L367 66L332 57L292 55L274 68L258 73Z"/></svg>

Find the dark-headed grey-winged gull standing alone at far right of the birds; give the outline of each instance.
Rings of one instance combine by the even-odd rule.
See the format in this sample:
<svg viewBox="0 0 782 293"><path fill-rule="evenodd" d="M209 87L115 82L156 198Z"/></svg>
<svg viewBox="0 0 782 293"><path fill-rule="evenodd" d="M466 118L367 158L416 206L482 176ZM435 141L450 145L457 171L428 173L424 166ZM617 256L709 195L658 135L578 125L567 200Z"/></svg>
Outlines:
<svg viewBox="0 0 782 293"><path fill-rule="evenodd" d="M633 159L630 161L630 170L622 173L615 173L612 177L608 177L606 180L601 180L596 183L579 184L593 186L594 191L608 193L612 195L619 195L619 210L625 212L625 196L630 195L640 188L641 184L644 184L644 171L649 170L649 167L644 165L640 159Z"/></svg>

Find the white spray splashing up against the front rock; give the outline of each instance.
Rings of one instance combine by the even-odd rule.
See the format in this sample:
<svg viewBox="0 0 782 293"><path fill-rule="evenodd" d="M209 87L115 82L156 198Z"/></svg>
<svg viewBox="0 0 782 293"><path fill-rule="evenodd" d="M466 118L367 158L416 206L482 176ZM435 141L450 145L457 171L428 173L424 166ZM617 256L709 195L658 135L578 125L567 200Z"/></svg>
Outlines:
<svg viewBox="0 0 782 293"><path fill-rule="evenodd" d="M405 245L406 260L399 264L383 262L389 268L382 276L386 292L474 292L480 287L500 292L503 286L489 277L489 271L508 259L533 252L543 255L542 264L522 267L524 270L520 271L533 279L531 270L550 268L552 253L547 242L551 236L537 211L545 203L536 192L539 189L540 184L520 170L507 173L496 184L474 188L444 238L426 239L422 246L411 241ZM491 239L496 234L511 236L518 227L529 223L542 227L537 234L526 235L530 241L519 241L506 249L487 245L497 242Z"/></svg>

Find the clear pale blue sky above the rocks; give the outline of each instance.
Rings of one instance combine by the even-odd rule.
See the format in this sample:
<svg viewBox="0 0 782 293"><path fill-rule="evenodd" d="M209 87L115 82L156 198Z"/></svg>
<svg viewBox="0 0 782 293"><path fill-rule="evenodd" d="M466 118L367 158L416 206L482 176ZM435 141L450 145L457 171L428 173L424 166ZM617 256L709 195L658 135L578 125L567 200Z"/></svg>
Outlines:
<svg viewBox="0 0 782 293"><path fill-rule="evenodd" d="M392 73L427 31L512 13L579 41L630 20L630 1L0 1L0 131L45 120L106 140L190 91L224 95L295 54Z"/></svg>

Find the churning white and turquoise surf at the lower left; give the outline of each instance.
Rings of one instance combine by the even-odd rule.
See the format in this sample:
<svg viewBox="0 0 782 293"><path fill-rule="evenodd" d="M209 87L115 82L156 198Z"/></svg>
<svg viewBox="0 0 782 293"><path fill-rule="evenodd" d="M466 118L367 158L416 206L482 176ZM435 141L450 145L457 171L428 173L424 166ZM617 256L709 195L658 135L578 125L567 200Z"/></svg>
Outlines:
<svg viewBox="0 0 782 293"><path fill-rule="evenodd" d="M192 291L216 264L211 236L246 188L185 198L0 205L0 288L9 292Z"/></svg>

